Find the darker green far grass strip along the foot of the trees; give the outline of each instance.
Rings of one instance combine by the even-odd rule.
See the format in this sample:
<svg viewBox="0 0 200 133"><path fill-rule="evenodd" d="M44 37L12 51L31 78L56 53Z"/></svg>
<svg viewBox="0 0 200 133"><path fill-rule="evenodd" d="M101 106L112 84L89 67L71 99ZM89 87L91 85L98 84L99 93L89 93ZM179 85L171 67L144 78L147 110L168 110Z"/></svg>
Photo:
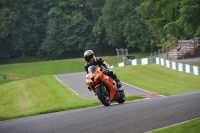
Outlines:
<svg viewBox="0 0 200 133"><path fill-rule="evenodd" d="M144 58L149 54L135 53L134 55ZM110 65L117 64L117 56L104 56L102 58ZM84 64L85 60L83 58L76 58L67 60L0 65L0 78L2 79L2 76L6 75L7 79L4 81L0 80L0 85L41 75L82 72L84 71Z"/></svg>

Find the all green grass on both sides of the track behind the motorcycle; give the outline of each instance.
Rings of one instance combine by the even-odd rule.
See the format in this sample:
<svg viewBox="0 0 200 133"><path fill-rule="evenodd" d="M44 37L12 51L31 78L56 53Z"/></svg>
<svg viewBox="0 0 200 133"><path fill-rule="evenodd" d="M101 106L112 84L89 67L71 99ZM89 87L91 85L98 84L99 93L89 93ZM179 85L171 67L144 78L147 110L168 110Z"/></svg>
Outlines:
<svg viewBox="0 0 200 133"><path fill-rule="evenodd" d="M116 56L105 56L103 59L110 65L117 62ZM6 80L0 79L0 121L101 105L98 99L86 100L77 96L53 76L82 72L84 64L82 58L77 58L0 65L0 75L6 75ZM200 76L156 64L113 70L123 82L162 95L200 90ZM127 100L141 98L129 96Z"/></svg>

